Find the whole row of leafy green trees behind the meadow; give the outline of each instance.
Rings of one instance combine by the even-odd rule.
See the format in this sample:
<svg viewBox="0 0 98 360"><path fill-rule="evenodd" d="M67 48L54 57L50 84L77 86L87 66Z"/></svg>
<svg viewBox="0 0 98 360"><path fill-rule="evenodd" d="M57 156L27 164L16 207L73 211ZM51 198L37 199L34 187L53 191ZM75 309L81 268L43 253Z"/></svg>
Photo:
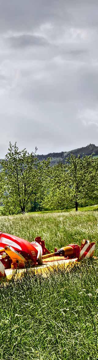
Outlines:
<svg viewBox="0 0 98 360"><path fill-rule="evenodd" d="M65 163L50 166L51 158L39 161L35 152L20 151L9 144L1 161L2 214L37 210L64 210L98 202L98 159L70 154Z"/></svg>

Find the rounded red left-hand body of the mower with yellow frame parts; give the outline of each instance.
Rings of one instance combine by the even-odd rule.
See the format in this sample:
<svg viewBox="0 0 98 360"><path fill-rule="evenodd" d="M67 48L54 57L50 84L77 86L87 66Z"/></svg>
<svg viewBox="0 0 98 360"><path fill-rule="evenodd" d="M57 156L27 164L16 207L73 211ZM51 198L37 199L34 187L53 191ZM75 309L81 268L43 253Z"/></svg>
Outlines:
<svg viewBox="0 0 98 360"><path fill-rule="evenodd" d="M0 231L0 276L6 269L17 269L42 265L42 255L50 253L45 241L37 237L29 243L27 240Z"/></svg>

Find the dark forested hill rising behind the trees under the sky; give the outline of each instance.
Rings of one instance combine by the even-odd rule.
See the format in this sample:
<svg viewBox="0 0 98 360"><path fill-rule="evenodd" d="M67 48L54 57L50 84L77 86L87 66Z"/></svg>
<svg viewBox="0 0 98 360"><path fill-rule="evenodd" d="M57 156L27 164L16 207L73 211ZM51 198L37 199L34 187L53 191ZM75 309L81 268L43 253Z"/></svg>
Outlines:
<svg viewBox="0 0 98 360"><path fill-rule="evenodd" d="M78 156L78 154L80 154L80 156L82 157L83 154L84 155L90 155L94 153L95 156L98 156L98 146L95 146L94 144L89 144L85 147L82 148L78 148L78 149L74 149L74 150L70 150L70 151L61 151L61 153L49 153L46 155L37 155L39 160L43 160L43 159L47 159L48 157L51 157L51 165L55 165L57 162L65 162L65 159L67 156L69 156L70 154L74 154L76 156Z"/></svg>

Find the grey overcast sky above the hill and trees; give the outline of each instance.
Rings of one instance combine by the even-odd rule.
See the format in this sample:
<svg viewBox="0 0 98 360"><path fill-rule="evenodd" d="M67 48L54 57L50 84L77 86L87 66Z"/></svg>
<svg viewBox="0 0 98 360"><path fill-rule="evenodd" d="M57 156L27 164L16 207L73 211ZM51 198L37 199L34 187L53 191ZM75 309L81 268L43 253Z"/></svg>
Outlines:
<svg viewBox="0 0 98 360"><path fill-rule="evenodd" d="M98 0L0 0L0 158L98 145Z"/></svg>

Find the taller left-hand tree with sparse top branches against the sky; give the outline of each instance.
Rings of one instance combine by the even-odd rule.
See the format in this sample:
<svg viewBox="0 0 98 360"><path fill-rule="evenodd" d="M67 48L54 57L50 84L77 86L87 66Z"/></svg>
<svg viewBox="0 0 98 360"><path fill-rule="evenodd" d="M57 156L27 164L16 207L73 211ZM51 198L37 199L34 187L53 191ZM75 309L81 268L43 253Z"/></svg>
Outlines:
<svg viewBox="0 0 98 360"><path fill-rule="evenodd" d="M36 149L37 150L37 149ZM19 151L17 144L9 144L5 160L1 162L5 178L4 195L5 213L25 212L26 207L35 198L42 182L42 168L45 174L45 165L40 163L35 153L29 154L26 149Z"/></svg>

